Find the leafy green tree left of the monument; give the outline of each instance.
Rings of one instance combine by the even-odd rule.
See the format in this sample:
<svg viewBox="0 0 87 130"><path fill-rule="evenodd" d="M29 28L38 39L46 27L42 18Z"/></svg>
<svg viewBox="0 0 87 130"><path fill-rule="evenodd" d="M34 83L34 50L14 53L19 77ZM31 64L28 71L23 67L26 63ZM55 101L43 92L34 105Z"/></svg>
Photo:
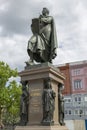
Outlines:
<svg viewBox="0 0 87 130"><path fill-rule="evenodd" d="M15 117L18 116L21 85L15 80L7 85L9 78L17 76L17 69L13 70L8 64L0 62L0 120L2 109L6 112L5 117L9 115L10 119L14 118L16 120Z"/></svg>

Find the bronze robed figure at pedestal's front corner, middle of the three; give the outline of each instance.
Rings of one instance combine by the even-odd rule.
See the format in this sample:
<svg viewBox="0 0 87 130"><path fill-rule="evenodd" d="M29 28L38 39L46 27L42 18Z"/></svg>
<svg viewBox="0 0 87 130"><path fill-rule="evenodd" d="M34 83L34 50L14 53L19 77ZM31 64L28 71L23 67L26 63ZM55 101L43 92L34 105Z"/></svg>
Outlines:
<svg viewBox="0 0 87 130"><path fill-rule="evenodd" d="M45 88L43 91L43 120L42 124L53 124L53 113L55 109L55 92L52 90L50 79L45 80Z"/></svg>

